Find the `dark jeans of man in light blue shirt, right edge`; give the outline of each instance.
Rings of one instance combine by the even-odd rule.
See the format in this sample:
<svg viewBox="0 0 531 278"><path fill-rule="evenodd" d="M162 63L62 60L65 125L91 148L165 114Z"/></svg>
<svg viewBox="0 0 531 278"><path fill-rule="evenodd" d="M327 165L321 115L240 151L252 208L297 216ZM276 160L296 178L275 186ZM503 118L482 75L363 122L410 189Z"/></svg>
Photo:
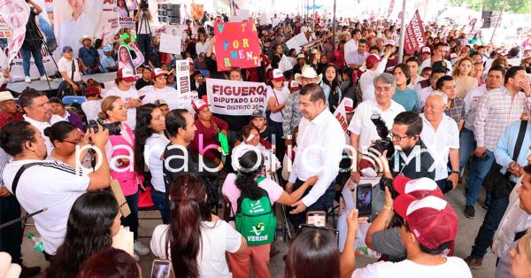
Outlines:
<svg viewBox="0 0 531 278"><path fill-rule="evenodd" d="M504 217L508 205L509 197L499 197L496 196L496 194L492 194L489 210L487 211L487 214L485 214L483 224L481 225L478 236L476 236L472 246L472 253L470 255L473 258L483 259L487 253L492 237L494 236L494 233L496 233L496 229Z"/></svg>

